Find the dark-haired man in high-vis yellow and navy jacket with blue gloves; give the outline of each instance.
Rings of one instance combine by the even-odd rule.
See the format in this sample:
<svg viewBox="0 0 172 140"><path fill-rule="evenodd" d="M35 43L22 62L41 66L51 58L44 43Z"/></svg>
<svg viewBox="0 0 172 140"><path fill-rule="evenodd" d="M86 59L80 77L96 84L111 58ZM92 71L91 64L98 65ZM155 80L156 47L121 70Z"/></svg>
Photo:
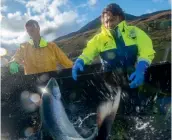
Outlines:
<svg viewBox="0 0 172 140"><path fill-rule="evenodd" d="M122 9L117 4L108 5L101 16L101 32L88 43L75 61L72 76L100 56L106 69L122 67L129 73L130 88L144 83L144 73L154 58L154 49L149 36L136 26L128 26ZM134 71L131 72L131 68Z"/></svg>

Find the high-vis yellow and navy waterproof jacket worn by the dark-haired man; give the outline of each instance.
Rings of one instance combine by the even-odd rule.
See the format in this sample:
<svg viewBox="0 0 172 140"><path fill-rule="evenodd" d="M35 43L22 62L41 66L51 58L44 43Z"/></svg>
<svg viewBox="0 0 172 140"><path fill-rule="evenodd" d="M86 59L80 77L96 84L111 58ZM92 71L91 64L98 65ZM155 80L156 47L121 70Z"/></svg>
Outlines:
<svg viewBox="0 0 172 140"><path fill-rule="evenodd" d="M79 56L84 60L84 64L90 64L98 55L112 65L120 62L134 65L140 60L149 64L152 62L155 51L151 39L144 31L128 26L126 21L119 23L114 30L116 34L112 34L102 25L101 32L87 43Z"/></svg>

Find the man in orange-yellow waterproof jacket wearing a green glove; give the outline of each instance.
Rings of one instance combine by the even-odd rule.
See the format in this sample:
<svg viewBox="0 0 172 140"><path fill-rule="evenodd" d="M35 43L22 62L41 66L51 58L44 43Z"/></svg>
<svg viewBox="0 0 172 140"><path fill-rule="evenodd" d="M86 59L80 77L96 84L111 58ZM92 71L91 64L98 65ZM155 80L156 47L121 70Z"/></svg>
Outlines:
<svg viewBox="0 0 172 140"><path fill-rule="evenodd" d="M65 68L71 68L73 62L53 42L47 42L40 36L40 27L37 21L29 20L25 24L30 36L28 42L20 44L20 48L10 63L10 72L18 72L19 64L24 65L25 75L57 70L57 63Z"/></svg>

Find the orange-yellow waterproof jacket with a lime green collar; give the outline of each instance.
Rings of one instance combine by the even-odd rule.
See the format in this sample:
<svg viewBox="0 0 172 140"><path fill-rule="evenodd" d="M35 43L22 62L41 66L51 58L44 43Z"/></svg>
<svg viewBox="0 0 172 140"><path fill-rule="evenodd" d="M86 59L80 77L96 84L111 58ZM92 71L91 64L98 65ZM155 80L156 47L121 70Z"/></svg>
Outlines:
<svg viewBox="0 0 172 140"><path fill-rule="evenodd" d="M55 43L41 38L39 46L35 48L32 40L22 43L12 58L12 61L24 65L26 75L55 71L58 63L65 68L73 66L73 62Z"/></svg>

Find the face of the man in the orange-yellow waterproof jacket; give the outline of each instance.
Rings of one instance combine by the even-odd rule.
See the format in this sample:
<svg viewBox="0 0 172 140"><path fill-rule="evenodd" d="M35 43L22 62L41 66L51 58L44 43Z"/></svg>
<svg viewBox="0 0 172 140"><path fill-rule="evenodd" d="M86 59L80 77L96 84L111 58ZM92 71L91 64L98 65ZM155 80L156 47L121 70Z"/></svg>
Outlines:
<svg viewBox="0 0 172 140"><path fill-rule="evenodd" d="M36 39L40 36L40 29L36 25L35 26L34 25L26 26L26 31L32 39Z"/></svg>

